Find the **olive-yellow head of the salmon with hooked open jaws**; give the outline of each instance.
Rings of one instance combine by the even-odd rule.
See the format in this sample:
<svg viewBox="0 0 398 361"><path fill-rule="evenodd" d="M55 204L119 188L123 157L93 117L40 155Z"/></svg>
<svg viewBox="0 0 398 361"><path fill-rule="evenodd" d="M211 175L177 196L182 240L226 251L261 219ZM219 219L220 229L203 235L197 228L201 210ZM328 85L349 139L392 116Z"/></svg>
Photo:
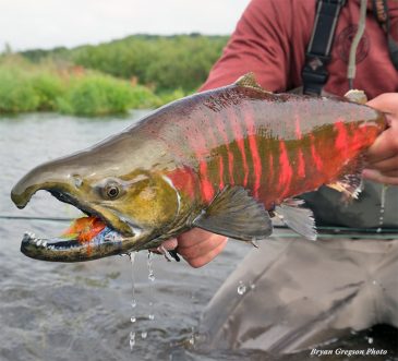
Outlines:
<svg viewBox="0 0 398 361"><path fill-rule="evenodd" d="M76 237L38 239L27 232L21 248L24 254L45 261L77 262L160 243L156 239L167 233L179 213L179 193L162 171L149 167L154 163L144 154L130 158L124 155L117 160L114 152L114 146L112 152L100 146L56 159L36 167L15 184L11 197L19 208L25 207L37 191L45 190L104 226L98 232L76 232Z"/></svg>

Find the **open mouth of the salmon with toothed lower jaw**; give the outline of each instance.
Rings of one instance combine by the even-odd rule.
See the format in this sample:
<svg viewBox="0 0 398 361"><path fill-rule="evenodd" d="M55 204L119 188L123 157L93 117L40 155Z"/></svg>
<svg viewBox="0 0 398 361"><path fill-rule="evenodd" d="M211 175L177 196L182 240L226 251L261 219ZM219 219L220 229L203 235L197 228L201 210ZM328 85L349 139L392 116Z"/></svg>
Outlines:
<svg viewBox="0 0 398 361"><path fill-rule="evenodd" d="M104 226L100 231L84 240L77 234L39 238L33 232L26 231L21 242L21 252L31 258L50 262L84 262L141 251L154 244L150 242L154 236L130 219L120 219L120 216L111 210L83 204L65 192L58 190L48 190L48 192L88 216L76 220L92 218Z"/></svg>

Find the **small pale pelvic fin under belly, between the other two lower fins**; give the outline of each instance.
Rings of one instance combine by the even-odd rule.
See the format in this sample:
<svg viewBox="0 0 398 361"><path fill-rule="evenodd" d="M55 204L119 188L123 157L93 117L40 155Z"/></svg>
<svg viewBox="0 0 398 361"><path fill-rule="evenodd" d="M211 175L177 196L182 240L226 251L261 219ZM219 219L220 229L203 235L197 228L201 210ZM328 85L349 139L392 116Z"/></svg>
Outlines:
<svg viewBox="0 0 398 361"><path fill-rule="evenodd" d="M303 203L302 200L285 200L282 204L275 207L275 213L293 231L315 241L317 234L314 215L311 209L302 207Z"/></svg>

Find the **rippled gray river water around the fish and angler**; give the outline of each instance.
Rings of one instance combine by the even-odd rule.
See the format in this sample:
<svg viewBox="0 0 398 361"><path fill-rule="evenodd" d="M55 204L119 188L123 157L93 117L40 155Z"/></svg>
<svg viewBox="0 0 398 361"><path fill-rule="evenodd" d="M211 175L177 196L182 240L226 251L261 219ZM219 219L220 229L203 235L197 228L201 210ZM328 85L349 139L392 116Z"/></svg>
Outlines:
<svg viewBox="0 0 398 361"><path fill-rule="evenodd" d="M38 192L19 210L10 201L10 190L34 166L92 145L144 113L101 119L32 113L0 119L0 217L77 216L75 208L46 192ZM284 357L249 350L204 353L192 342L201 312L251 251L250 245L231 241L219 257L200 269L155 255L150 264L155 280L148 279L147 253L138 253L134 263L136 306L132 309L129 257L60 264L31 260L20 252L25 230L39 237L58 236L68 225L0 218L0 360L310 359L309 352ZM132 351L131 333L135 335ZM388 350L388 360L398 360L397 335L393 328L376 327L333 347L366 349L372 340L372 347ZM337 356L319 359L346 360Z"/></svg>

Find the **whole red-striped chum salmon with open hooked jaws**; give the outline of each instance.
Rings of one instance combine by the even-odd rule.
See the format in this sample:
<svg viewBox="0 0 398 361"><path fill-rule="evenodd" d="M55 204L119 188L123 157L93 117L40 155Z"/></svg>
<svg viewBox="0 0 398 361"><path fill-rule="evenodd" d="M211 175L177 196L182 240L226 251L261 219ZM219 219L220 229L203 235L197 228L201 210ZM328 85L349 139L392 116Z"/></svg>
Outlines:
<svg viewBox="0 0 398 361"><path fill-rule="evenodd" d="M386 127L382 112L349 98L272 94L250 73L168 104L20 180L17 207L46 190L87 214L74 227L96 225L84 241L75 230L26 233L22 252L95 260L156 248L193 227L254 241L272 233L275 215L315 239L312 212L294 196L327 184L354 197L364 152Z"/></svg>

